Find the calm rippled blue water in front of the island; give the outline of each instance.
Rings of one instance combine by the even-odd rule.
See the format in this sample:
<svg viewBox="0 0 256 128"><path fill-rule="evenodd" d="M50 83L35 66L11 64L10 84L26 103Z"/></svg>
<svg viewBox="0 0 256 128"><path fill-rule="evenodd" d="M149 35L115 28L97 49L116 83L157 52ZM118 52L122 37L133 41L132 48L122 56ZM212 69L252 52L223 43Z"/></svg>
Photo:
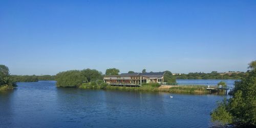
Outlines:
<svg viewBox="0 0 256 128"><path fill-rule="evenodd" d="M0 92L0 127L210 127L209 114L225 97L17 84Z"/></svg>

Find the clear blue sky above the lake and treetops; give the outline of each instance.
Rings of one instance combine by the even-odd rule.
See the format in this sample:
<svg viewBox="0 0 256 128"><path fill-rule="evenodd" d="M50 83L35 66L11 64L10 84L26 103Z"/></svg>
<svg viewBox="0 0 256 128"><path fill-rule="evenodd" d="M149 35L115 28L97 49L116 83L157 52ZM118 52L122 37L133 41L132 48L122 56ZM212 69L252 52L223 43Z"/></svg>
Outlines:
<svg viewBox="0 0 256 128"><path fill-rule="evenodd" d="M246 71L256 1L0 1L0 64L11 74Z"/></svg>

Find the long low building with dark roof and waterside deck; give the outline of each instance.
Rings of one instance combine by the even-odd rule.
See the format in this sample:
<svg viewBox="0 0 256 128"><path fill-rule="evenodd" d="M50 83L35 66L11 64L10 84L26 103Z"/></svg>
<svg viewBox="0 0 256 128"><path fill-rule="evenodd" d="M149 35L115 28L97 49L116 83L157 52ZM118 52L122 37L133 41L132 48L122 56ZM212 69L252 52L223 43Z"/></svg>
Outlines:
<svg viewBox="0 0 256 128"><path fill-rule="evenodd" d="M164 72L148 73L121 73L119 75L105 75L104 82L108 84L132 84L141 85L142 83L163 83Z"/></svg>

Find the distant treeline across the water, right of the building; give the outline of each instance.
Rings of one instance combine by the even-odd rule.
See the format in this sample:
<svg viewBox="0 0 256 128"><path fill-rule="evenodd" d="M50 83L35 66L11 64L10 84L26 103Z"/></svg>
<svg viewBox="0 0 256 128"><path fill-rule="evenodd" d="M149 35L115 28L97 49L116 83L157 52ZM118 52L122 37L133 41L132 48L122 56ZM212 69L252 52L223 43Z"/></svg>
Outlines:
<svg viewBox="0 0 256 128"><path fill-rule="evenodd" d="M228 73L220 74L217 71L212 71L211 73L201 73L201 72L195 72L195 73L188 73L188 74L180 74L175 75L176 79L213 79L213 80L227 80L227 79L233 79L233 80L239 80L243 78L246 75L245 72L240 73L231 73L230 75Z"/></svg>

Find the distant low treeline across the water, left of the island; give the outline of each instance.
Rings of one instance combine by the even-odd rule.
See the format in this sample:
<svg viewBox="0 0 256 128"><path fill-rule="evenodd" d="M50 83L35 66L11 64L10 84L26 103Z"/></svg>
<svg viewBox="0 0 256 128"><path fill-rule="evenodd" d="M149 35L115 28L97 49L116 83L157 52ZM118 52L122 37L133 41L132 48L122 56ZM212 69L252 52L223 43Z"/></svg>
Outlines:
<svg viewBox="0 0 256 128"><path fill-rule="evenodd" d="M14 82L54 81L55 75L11 75Z"/></svg>

